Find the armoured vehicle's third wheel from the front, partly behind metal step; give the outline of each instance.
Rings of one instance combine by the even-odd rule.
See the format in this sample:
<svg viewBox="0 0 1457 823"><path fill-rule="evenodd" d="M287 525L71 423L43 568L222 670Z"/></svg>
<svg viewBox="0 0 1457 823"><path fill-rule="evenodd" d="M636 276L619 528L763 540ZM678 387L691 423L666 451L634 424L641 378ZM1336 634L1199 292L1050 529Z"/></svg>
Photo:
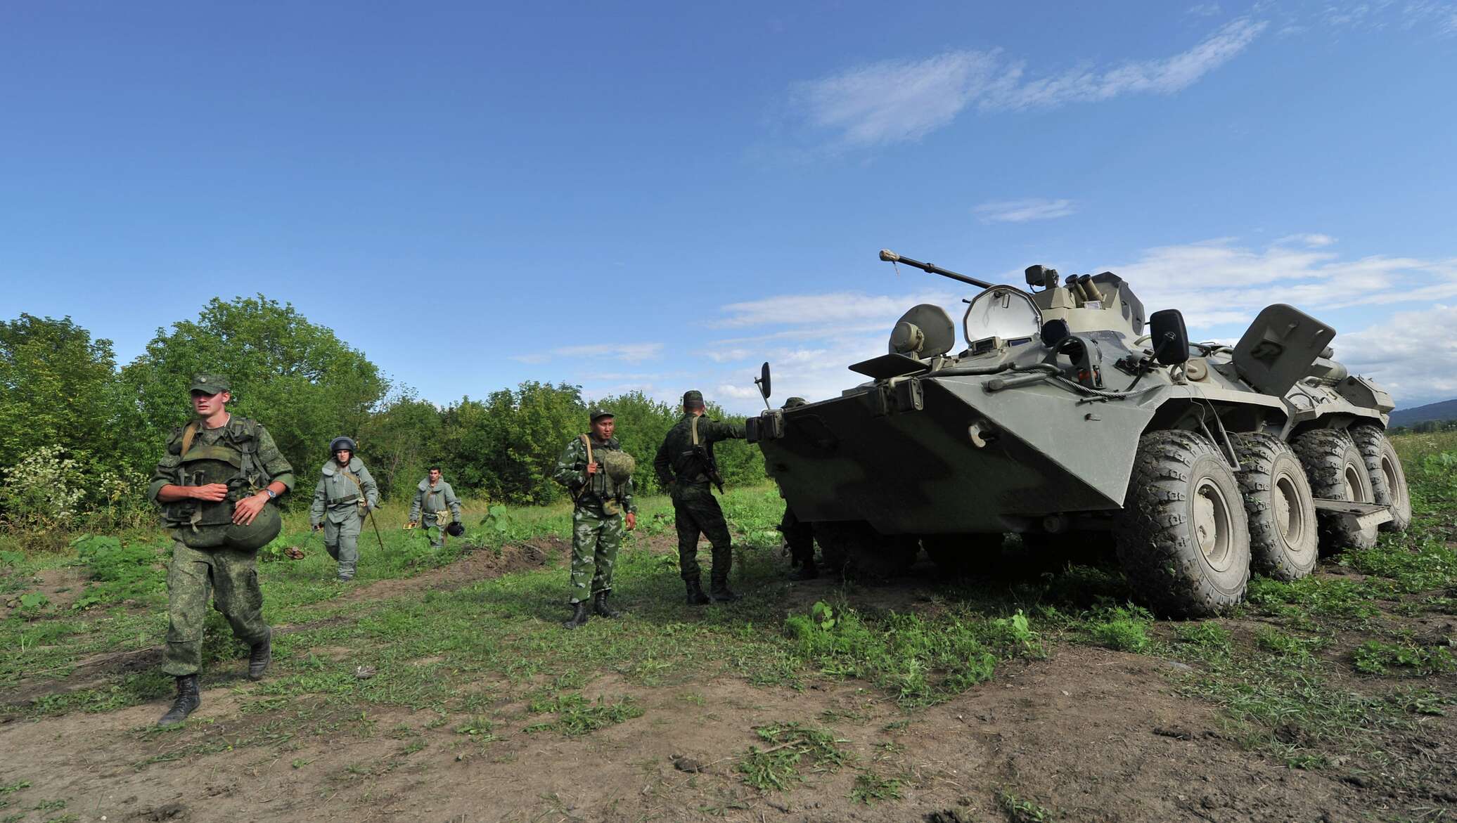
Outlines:
<svg viewBox="0 0 1457 823"><path fill-rule="evenodd" d="M1316 428L1295 438L1295 453L1305 466L1310 492L1321 500L1375 503L1371 472L1351 436L1336 428ZM1370 549L1375 545L1375 526L1355 529L1336 511L1316 511L1320 524L1320 551L1332 555L1345 548Z"/></svg>

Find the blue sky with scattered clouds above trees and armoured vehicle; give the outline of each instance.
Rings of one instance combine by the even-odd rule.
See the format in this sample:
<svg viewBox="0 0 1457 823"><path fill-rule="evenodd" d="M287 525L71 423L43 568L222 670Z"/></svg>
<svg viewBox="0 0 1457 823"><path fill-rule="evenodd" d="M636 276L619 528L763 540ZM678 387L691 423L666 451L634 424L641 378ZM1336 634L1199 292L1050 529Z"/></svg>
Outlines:
<svg viewBox="0 0 1457 823"><path fill-rule="evenodd" d="M446 403L838 393L895 319L1113 269L1457 396L1457 3L10 3L0 315L136 357L264 293ZM1413 339L1412 332L1425 332ZM441 366L430 347L452 353Z"/></svg>

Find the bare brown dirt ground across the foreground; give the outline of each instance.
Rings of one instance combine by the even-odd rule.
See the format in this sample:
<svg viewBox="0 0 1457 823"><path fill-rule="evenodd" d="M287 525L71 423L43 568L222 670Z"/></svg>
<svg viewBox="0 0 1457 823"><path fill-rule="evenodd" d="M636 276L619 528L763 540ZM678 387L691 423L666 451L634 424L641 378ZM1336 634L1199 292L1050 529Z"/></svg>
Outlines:
<svg viewBox="0 0 1457 823"><path fill-rule="evenodd" d="M415 578L361 587L351 597L463 586L541 565L561 548L527 543L501 558L476 552ZM785 606L812 603L828 586L797 586ZM918 600L914 581L867 593L873 600L867 606L906 607ZM147 661L134 664L141 663ZM51 688L79 688L95 679L98 667L115 664L83 664ZM1217 708L1179 695L1180 667L1157 657L1053 644L1045 660L1007 663L991 682L914 714L855 680L812 682L796 692L737 677L645 688L609 674L592 680L584 695L629 695L645 711L584 737L522 731L530 722L525 705L508 706L506 717L519 722L485 740L460 734L455 722L441 724L430 711L372 709L377 733L360 734L341 717L323 717L321 724L337 722L339 731L300 734L291 749L243 744L259 736L288 740L288 730L271 724L268 714L243 711L252 683L214 682L195 715L204 722L175 733L150 731L162 704L0 720L0 787L31 782L25 806L0 807L0 819L1134 823L1457 814L1451 717L1422 718L1416 730L1391 733L1396 737L1387 741L1389 752L1410 759L1393 771L1416 763L1428 773L1425 795L1413 797L1403 788L1410 782L1383 773L1289 769L1249 750L1233 739ZM1451 677L1440 685L1448 693L1454 686ZM7 702L16 696L7 695ZM851 765L809 773L788 792L759 794L743 785L736 757L750 744L765 746L753 727L785 718L835 731L852 755ZM198 743L208 746L200 753ZM899 775L903 798L852 803L857 768L864 766ZM0 794L0 803L19 797ZM34 798L67 803L64 810L7 817L34 808ZM1018 811L1016 803L1026 807ZM1413 808L1429 811L1413 816Z"/></svg>

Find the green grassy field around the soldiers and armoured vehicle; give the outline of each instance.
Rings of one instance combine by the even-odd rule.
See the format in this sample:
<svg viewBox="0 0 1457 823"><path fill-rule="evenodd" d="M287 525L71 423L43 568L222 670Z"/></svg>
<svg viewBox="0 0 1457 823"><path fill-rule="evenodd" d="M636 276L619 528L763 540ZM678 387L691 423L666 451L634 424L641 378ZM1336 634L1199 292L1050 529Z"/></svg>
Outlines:
<svg viewBox="0 0 1457 823"><path fill-rule="evenodd" d="M310 762L300 752L341 737L398 740L388 756L350 763L331 778L366 785L431 747L456 762L506 763L519 756L503 749L508 739L567 741L627 722L669 722L650 695L670 695L669 705L679 708L667 714L691 714L724 682L806 699L848 686L879 706L884 739L865 736L854 752L835 730L868 722L857 712L870 709L810 701L810 714L742 730L752 737L723 753L718 784L747 792L733 803L750 803L745 798L813 792L806 781L830 779L814 775L844 775L839 803L895 808L934 788L906 765L916 741L895 737L896 730L995 683L1008 666L1026 672L1078 650L1110 650L1148 660L1179 699L1215 711L1218 728L1209 734L1249 757L1356 781L1349 785L1377 781L1409 798L1390 814L1367 817L1445 819L1422 811L1441 807L1448 789L1410 741L1432 734L1429 721L1445 721L1457 695L1450 618L1457 615L1457 433L1406 436L1397 449L1416 510L1407 532L1323 561L1320 574L1298 583L1256 578L1244 606L1203 622L1155 621L1132 605L1116 567L1043 570L1017 540L972 580L922 572L909 584L841 581L804 596L784 580L787 561L774 532L782 504L769 487L723 498L736 540L734 586L746 600L683 605L670 504L647 498L616 572L616 600L629 615L593 619L574 632L559 626L567 616L565 507L468 507L466 539L443 552L399 529L404 511L385 508L383 551L366 530L358 580L342 586L331 580L319 537L310 537L302 516L290 516L259 564L265 615L280 629L270 677L243 680L243 648L220 615L208 623L204 686L227 686L233 715L254 721L211 727L205 702L184 728L133 725L124 736L136 747L137 771L237 752L300 771ZM307 556L283 559L284 545ZM166 549L160 535L141 533L79 536L54 555L0 555L7 609L0 714L47 722L140 704L160 714L170 690L156 666L166 632ZM707 548L702 555L707 561ZM382 717L414 720L385 728ZM1445 737L1440 743L1451 750ZM9 784L0 785L0 819L61 819L26 806L39 803L29 785L36 775L9 763L0 779ZM712 791L727 792L723 785ZM982 806L1008 820L1067 816L1059 811L1065 797L1030 794L1008 781ZM723 803L720 811L740 808Z"/></svg>

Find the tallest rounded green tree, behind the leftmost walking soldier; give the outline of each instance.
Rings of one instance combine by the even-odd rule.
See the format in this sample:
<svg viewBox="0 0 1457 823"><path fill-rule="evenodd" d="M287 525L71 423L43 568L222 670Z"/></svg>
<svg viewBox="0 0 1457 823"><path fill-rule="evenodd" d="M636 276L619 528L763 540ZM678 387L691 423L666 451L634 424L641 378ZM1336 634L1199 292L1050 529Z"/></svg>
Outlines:
<svg viewBox="0 0 1457 823"><path fill-rule="evenodd" d="M121 371L137 396L133 440L149 460L156 460L166 433L188 420L188 386L198 371L229 376L230 408L268 427L300 485L328 459L329 440L357 437L389 390L363 353L293 304L262 294L214 297L197 320L157 329L146 353Z"/></svg>

